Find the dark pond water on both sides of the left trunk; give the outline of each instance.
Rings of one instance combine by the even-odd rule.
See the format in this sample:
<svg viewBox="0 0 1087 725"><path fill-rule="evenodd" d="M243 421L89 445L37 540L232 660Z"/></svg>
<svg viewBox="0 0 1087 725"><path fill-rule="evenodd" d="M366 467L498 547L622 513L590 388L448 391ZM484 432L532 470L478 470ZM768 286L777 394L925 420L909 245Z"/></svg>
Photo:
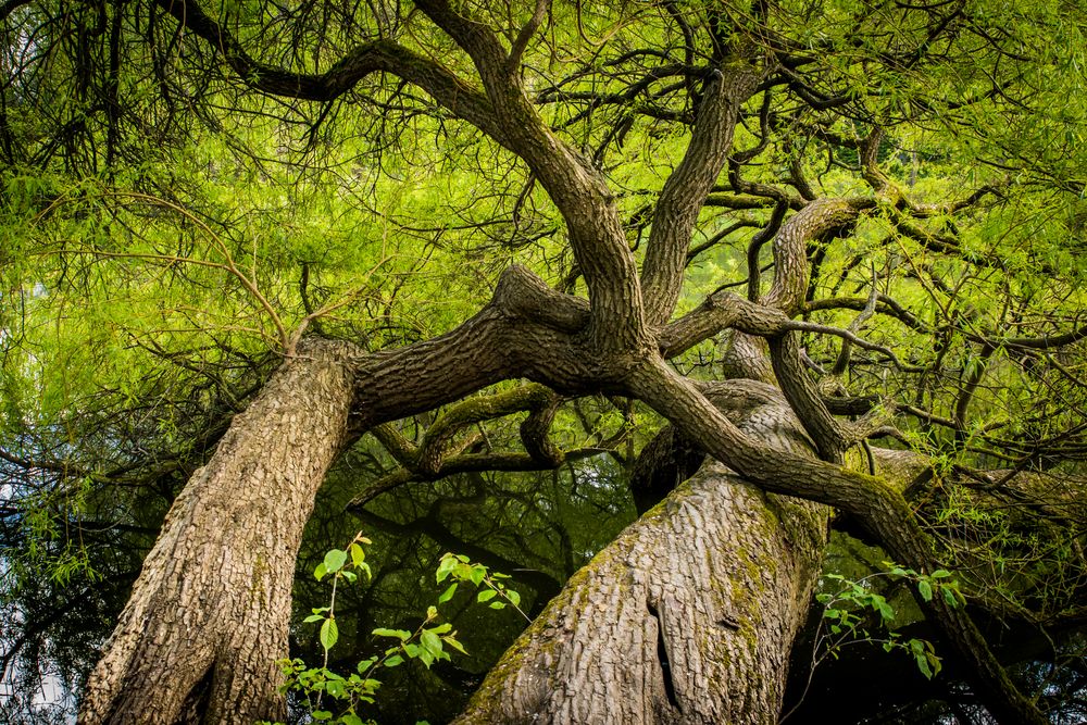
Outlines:
<svg viewBox="0 0 1087 725"><path fill-rule="evenodd" d="M317 583L313 567L330 548L343 548L363 532L373 580L338 587L336 621L340 638L330 650L329 668L342 675L375 654L389 640L375 638L376 627L414 630L427 607L448 583L439 586L435 568L441 554L465 554L490 571L510 575L508 586L521 597L529 615L559 592L566 578L635 517L624 465L609 455L577 461L553 472L465 474L437 483L416 483L385 493L362 510L347 511L349 501L391 470L374 449L357 447L332 472L321 493L299 555L295 586L291 655L320 665L323 650L317 625L303 624L311 608L328 604L327 583ZM125 505L126 523L82 534L96 571L80 571L58 580L22 563L0 559L7 586L0 620L0 723L73 722L84 678L97 649L109 636L168 505L163 495L140 491ZM103 501L103 513L108 504ZM134 517L134 511L139 516ZM110 513L120 513L111 511ZM104 516L103 516L104 517ZM12 526L4 532L13 549L25 537ZM66 549L58 541L41 561L55 561ZM426 720L438 725L454 716L483 675L526 625L512 609L496 611L475 602L475 591L461 585L440 605L467 654L426 668L408 662L378 676L383 686L366 711L383 725ZM298 702L292 715L302 722Z"/></svg>

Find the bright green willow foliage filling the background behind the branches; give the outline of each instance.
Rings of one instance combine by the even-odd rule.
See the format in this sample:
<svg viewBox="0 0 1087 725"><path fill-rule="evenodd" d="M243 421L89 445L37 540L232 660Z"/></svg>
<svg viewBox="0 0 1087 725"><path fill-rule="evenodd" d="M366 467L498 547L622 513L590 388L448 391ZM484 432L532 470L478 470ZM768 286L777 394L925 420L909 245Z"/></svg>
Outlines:
<svg viewBox="0 0 1087 725"><path fill-rule="evenodd" d="M396 3L201 4L247 52L284 70L335 68L346 49L383 38L438 59L470 86L478 82L472 59L425 13L400 15ZM528 10L454 4L507 42ZM13 460L0 463L0 601L34 613L9 621L52 621L42 602L91 585L123 589L172 497L303 327L371 350L426 339L474 314L511 263L584 292L563 220L533 170L395 74L333 102L283 102L248 92L214 43L179 32L154 3L35 0L3 12L0 441ZM1069 611L1083 590L1082 527L1063 523L1082 520L1062 508L1072 496L1052 487L1024 498L1010 475L996 487L1011 501L1001 511L982 496L996 479L975 474L1050 472L1082 488L1084 343L1015 342L1080 328L1087 308L1082 8L1061 0L551 3L518 78L554 135L591 157L611 185L638 260L720 47L744 37L773 38L760 52L795 62L770 61L776 70L765 92L742 109L735 150L754 155L715 179L699 212L679 312L723 286L741 291L748 245L772 218L773 199L730 188L733 172L775 187L792 209L801 179L820 197L877 197L855 146L882 127L882 172L919 209L932 207L909 220L920 232L908 234L902 204L877 200L841 238L813 241L810 296L814 304L875 290L894 300L909 324L880 308L859 334L914 372L854 349L841 379L822 383L885 401L873 417L894 420L897 440L930 459L920 515L933 530L951 532L946 561L964 573L972 597L992 593L1046 615ZM995 191L950 209L983 185ZM730 197L751 203L721 205ZM804 317L848 327L855 309ZM674 363L713 377L717 345L708 340ZM840 340L811 334L803 346L815 368L828 368ZM982 384L963 420L952 420L974 376ZM635 435L609 434L637 428L641 440L655 418L633 404L587 400L564 403L554 439L564 450L607 448L615 470L629 465ZM922 414L903 414L904 403ZM478 434L487 450L514 449L514 428L487 423L451 446L468 449ZM374 455L367 473L388 475L393 463ZM467 499L486 487L490 498L473 516L445 521L463 540L505 557L520 555L510 552L523 541L490 534L530 512L526 566L569 574L601 545L586 512L628 508L609 478L617 474L603 465L572 464L569 473L572 482L552 482L546 505L532 486L495 476L435 489ZM378 507L397 523L417 521L433 501L397 498ZM1032 510L1040 515L1022 514ZM559 535L555 522L564 525ZM423 534L415 542L439 546ZM335 591L368 578L354 546L362 551L353 542L329 552L316 579ZM439 604L463 600L472 585L476 601L520 611L498 575L459 559L440 566L452 568ZM302 578L299 588L313 586ZM392 588L417 588L417 577L401 578ZM914 589L922 599L949 596L939 579L919 578ZM884 621L888 602L849 591L848 607L830 608L844 612L834 621L839 634L855 612ZM317 609L311 624L327 653L350 627L332 607ZM32 638L75 639L42 632ZM428 657L440 658L441 637L427 636ZM422 635L413 645L423 647ZM913 645L897 648L904 647L916 657Z"/></svg>

